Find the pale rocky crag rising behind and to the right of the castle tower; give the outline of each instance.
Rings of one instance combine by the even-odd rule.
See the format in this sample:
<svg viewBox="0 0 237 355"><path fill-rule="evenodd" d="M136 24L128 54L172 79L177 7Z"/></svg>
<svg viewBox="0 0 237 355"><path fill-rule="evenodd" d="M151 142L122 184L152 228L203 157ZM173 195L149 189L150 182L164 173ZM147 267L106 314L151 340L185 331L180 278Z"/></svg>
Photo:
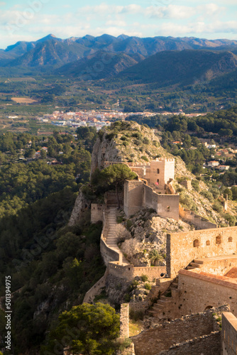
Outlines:
<svg viewBox="0 0 237 355"><path fill-rule="evenodd" d="M203 181L199 181L199 192L191 185L185 188L180 185L182 179L195 180L195 176L187 170L183 160L174 156L160 146L160 140L152 129L141 126L133 121L116 121L110 127L104 127L99 131L99 138L94 144L92 152L91 174L96 168L103 169L105 162L124 162L129 164L148 164L155 158L175 158L175 189L180 193L182 207L192 209L201 217L207 218L210 222L218 225L228 226L223 213L214 211L213 202L210 202L205 195L199 192L207 192L209 187ZM89 207L90 201L84 200L82 193L77 197L75 209L72 212L70 224L75 224L84 207ZM228 209L229 214L235 214L234 209Z"/></svg>

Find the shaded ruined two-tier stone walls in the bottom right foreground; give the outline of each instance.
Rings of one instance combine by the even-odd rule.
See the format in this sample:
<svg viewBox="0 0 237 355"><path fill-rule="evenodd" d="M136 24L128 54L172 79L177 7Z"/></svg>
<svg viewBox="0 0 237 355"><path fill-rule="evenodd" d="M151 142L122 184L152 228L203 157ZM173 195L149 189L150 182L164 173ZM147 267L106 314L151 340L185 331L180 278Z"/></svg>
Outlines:
<svg viewBox="0 0 237 355"><path fill-rule="evenodd" d="M157 324L132 337L136 355L221 354L221 332L213 313L228 307L207 310Z"/></svg>

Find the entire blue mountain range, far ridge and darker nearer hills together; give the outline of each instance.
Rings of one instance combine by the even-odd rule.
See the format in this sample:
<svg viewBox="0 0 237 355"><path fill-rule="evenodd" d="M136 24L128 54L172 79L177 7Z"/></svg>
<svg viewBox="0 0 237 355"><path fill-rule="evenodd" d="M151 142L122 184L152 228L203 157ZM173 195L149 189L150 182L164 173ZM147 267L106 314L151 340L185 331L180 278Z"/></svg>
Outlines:
<svg viewBox="0 0 237 355"><path fill-rule="evenodd" d="M13 69L33 70L83 80L118 77L162 86L226 75L237 69L236 55L237 40L107 34L61 39L50 34L0 50L0 69L5 75Z"/></svg>

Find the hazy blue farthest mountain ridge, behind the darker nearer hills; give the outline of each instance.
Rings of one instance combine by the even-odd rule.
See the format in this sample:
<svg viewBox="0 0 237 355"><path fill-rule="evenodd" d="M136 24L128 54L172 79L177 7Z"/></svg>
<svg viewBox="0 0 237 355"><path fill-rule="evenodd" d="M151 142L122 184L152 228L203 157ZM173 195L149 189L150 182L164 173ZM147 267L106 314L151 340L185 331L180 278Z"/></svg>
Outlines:
<svg viewBox="0 0 237 355"><path fill-rule="evenodd" d="M185 50L211 48L237 50L237 40L206 40L203 38L153 37L138 38L135 36L85 35L82 38L71 37L61 39L55 35L47 35L33 42L19 41L0 50L0 65L15 67L18 65L40 67L45 65L63 65L80 58L87 57L98 50L110 53L126 53L141 55L147 58L163 50ZM4 62L2 62L4 60ZM7 62L6 62L7 61Z"/></svg>

